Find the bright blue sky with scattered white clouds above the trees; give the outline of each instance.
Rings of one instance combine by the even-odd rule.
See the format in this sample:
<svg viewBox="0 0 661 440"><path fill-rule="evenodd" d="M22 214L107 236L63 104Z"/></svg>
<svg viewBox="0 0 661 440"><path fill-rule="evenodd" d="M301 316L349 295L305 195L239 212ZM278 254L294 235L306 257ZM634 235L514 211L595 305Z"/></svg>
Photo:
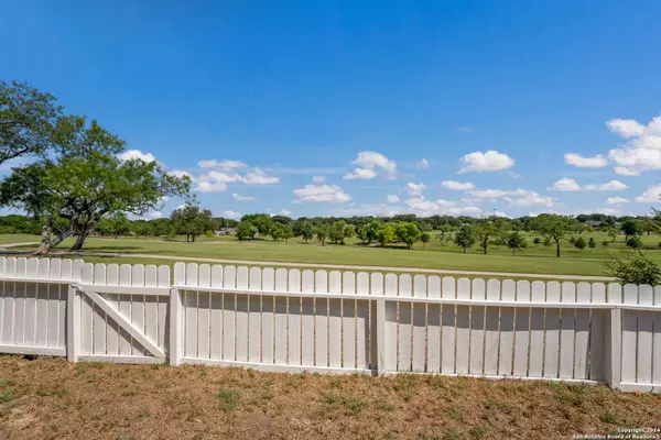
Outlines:
<svg viewBox="0 0 661 440"><path fill-rule="evenodd" d="M660 13L9 0L0 72L193 176L216 216L647 213L661 201Z"/></svg>

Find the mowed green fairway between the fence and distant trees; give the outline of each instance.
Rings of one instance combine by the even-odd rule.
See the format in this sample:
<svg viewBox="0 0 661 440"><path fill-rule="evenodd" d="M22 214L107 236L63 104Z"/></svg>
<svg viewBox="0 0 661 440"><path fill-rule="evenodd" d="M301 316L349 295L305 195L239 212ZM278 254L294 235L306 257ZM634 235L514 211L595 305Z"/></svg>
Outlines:
<svg viewBox="0 0 661 440"><path fill-rule="evenodd" d="M273 242L272 240L256 240L240 242L234 237L199 238L195 243L181 240L136 239L136 238L89 238L85 243L85 251L90 253L109 252L121 253L124 257L113 258L118 263L147 263L144 258L131 257L131 254L155 254L181 257L227 258L260 262L290 262L316 263L339 265L365 266L397 266L412 268L437 268L449 271L480 271L480 272L508 272L527 274L567 274L567 275L605 275L603 264L609 255L626 256L632 251L625 246L624 237L611 243L610 239L602 233L584 233L586 241L594 238L597 242L595 249L586 248L582 251L573 248L568 241L562 241L562 255L555 257L555 248L544 248L533 244L537 237L528 234L529 243L524 251L518 251L512 256L507 246L490 245L488 254L484 255L481 249L475 246L466 254L460 248L448 243L441 245L434 235L425 245L416 243L414 249L403 248L382 249L376 245L361 245L357 240L348 240L346 245L319 245L316 241L304 244L300 239ZM578 237L578 235L577 235ZM14 242L37 241L36 235L11 235ZM8 237L0 235L0 242L9 243ZM643 252L657 263L661 263L661 248L659 237L642 238L646 248ZM604 248L603 241L609 244ZM57 248L66 251L73 240L67 240ZM30 250L34 246L20 246L17 250ZM96 260L96 258L95 258ZM90 260L91 261L91 260ZM165 261L159 261L162 263Z"/></svg>

